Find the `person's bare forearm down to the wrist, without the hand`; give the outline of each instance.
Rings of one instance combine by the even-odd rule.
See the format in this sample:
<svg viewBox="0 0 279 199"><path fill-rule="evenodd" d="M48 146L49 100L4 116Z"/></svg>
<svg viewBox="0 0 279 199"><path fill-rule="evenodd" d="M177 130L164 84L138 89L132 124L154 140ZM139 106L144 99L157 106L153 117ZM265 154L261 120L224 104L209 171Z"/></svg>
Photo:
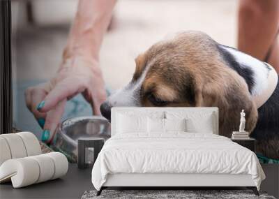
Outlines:
<svg viewBox="0 0 279 199"><path fill-rule="evenodd" d="M115 0L80 0L63 59L82 55L98 61L100 45L112 18Z"/></svg>

